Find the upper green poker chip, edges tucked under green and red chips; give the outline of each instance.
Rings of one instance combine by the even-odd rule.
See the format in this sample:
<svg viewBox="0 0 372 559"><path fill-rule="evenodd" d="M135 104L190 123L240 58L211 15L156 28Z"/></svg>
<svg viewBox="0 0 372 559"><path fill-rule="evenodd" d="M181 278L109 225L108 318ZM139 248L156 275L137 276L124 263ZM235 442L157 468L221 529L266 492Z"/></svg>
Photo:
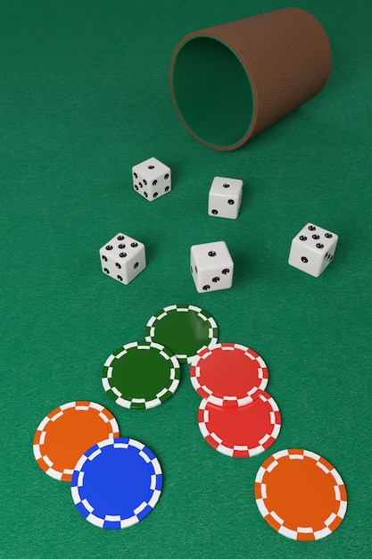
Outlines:
<svg viewBox="0 0 372 559"><path fill-rule="evenodd" d="M170 305L147 322L147 341L163 344L179 363L192 363L203 347L217 343L218 326L210 313L194 305Z"/></svg>

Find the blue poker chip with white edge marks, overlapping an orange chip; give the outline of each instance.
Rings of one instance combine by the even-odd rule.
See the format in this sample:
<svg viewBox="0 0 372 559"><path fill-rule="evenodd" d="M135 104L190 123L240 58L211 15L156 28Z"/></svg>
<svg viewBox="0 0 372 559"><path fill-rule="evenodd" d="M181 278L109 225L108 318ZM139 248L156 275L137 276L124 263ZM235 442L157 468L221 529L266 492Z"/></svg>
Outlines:
<svg viewBox="0 0 372 559"><path fill-rule="evenodd" d="M118 530L151 513L161 487L161 465L147 446L133 438L107 438L79 459L71 495L87 521Z"/></svg>

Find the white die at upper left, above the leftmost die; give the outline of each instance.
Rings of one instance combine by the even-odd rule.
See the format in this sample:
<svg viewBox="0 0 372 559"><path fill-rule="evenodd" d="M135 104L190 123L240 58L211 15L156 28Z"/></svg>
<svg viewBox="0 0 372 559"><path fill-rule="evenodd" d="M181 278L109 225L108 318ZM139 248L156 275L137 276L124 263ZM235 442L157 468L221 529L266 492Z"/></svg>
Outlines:
<svg viewBox="0 0 372 559"><path fill-rule="evenodd" d="M132 168L133 188L149 202L171 190L170 169L155 157Z"/></svg>

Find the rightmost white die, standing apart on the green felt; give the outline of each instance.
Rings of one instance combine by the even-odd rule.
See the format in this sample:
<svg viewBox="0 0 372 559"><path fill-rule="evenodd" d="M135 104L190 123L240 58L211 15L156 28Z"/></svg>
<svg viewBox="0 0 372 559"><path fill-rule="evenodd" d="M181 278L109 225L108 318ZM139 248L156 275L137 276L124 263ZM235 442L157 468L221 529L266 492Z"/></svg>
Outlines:
<svg viewBox="0 0 372 559"><path fill-rule="evenodd" d="M288 263L318 278L332 262L338 236L313 223L307 223L293 238Z"/></svg>

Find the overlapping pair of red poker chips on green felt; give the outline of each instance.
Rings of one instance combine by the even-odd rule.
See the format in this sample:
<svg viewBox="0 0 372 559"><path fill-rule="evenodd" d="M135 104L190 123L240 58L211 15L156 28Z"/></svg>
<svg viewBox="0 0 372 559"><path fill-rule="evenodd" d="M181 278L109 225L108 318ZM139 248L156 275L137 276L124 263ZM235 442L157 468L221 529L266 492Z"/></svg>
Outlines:
<svg viewBox="0 0 372 559"><path fill-rule="evenodd" d="M198 352L190 379L202 403L198 411L203 438L218 452L234 457L259 455L277 439L281 416L265 388L269 371L247 346L221 343Z"/></svg>

